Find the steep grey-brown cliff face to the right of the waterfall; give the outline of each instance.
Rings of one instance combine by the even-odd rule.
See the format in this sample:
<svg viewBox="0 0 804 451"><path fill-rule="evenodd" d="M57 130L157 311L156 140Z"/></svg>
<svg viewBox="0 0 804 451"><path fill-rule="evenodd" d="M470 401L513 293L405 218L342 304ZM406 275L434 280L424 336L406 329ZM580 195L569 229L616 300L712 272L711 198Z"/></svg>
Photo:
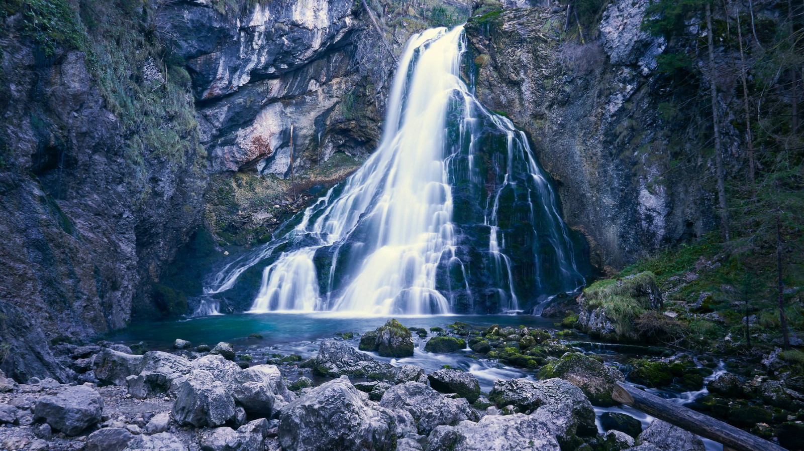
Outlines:
<svg viewBox="0 0 804 451"><path fill-rule="evenodd" d="M713 227L712 190L692 177L708 161L679 161L698 136L675 136L660 113L667 92L652 71L665 43L640 29L646 4L612 2L600 39L583 45L559 38L561 10L507 10L466 27L479 98L529 133L566 221L604 270Z"/></svg>

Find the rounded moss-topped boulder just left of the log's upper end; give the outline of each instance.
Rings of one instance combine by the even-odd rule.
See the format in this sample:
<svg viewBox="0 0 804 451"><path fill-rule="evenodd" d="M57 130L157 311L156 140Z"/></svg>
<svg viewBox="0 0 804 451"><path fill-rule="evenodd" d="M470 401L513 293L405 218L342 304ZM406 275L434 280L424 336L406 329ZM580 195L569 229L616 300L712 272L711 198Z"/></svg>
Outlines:
<svg viewBox="0 0 804 451"><path fill-rule="evenodd" d="M559 377L584 391L594 405L610 407L620 404L611 397L614 384L626 380L622 373L607 367L592 357L580 352L568 352L550 362L539 371L540 379Z"/></svg>

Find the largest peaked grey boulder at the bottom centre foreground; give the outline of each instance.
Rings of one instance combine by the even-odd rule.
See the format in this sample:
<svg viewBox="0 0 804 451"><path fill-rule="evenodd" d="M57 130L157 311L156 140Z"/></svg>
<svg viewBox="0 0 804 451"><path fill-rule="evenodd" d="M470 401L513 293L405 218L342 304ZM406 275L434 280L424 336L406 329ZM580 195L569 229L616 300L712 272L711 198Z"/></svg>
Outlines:
<svg viewBox="0 0 804 451"><path fill-rule="evenodd" d="M411 422L376 406L341 377L282 409L279 441L294 451L390 451L396 437L412 432Z"/></svg>

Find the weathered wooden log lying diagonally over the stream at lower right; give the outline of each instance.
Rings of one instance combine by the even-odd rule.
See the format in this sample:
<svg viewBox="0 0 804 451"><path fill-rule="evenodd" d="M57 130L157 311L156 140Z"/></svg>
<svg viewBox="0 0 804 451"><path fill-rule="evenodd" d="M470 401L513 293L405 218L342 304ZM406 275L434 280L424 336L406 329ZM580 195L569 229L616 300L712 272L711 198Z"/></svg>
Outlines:
<svg viewBox="0 0 804 451"><path fill-rule="evenodd" d="M734 449L735 451L785 451L779 445L762 440L760 437L749 434L744 430L727 425L723 421L715 420L712 416L695 412L629 384L617 382L611 397L621 404L630 405L648 415L655 416L661 421L667 421L671 425L722 443L724 449Z"/></svg>

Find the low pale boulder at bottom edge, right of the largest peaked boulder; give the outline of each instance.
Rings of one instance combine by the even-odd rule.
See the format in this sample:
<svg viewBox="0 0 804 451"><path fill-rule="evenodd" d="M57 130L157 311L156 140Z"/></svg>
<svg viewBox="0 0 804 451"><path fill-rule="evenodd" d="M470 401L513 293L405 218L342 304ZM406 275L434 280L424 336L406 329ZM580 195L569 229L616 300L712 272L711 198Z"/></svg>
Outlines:
<svg viewBox="0 0 804 451"><path fill-rule="evenodd" d="M515 413L484 416L480 421L461 421L439 426L430 434L430 451L560 451L556 437L534 416Z"/></svg>

